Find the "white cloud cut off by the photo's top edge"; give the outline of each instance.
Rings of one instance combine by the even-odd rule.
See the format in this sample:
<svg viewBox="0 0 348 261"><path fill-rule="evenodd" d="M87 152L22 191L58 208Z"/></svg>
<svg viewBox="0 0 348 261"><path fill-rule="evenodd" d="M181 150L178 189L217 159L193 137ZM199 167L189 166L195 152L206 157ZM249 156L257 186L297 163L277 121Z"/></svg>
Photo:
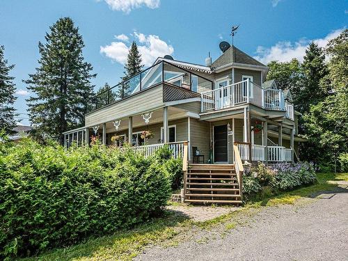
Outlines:
<svg viewBox="0 0 348 261"><path fill-rule="evenodd" d="M100 0L99 0L100 1ZM159 7L159 0L104 0L112 10L130 13L132 9L147 6L155 9Z"/></svg>

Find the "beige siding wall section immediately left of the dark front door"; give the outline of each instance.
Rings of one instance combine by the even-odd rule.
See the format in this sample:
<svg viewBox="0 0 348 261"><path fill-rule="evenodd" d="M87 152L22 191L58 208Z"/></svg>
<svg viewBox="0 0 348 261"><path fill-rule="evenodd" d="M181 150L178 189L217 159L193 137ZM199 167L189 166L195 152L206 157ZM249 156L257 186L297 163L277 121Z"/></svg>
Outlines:
<svg viewBox="0 0 348 261"><path fill-rule="evenodd" d="M192 147L197 147L202 155L205 155L205 163L209 159L210 135L209 122L190 119L190 153L192 158Z"/></svg>

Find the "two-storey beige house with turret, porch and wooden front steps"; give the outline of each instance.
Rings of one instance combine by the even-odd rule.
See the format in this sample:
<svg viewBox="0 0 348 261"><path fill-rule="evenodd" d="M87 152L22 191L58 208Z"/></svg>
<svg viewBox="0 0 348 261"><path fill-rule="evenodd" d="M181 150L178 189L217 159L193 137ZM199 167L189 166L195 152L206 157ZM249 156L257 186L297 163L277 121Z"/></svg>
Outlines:
<svg viewBox="0 0 348 261"><path fill-rule="evenodd" d="M102 143L110 145L111 137L117 136L113 139L117 145L127 141L145 155L168 143L178 156L188 141L191 166L184 197L192 202L199 200L187 193L193 193L193 184L199 182L189 179L201 173L199 179L210 182L211 190L207 197L207 193L197 195L207 202L216 200L219 188L212 188L218 184L214 177L221 181L223 175L230 175L228 179L234 179L236 152L242 161L294 161L299 142L305 140L297 135L301 114L294 110L290 92L279 90L274 80L265 81L267 66L237 47L223 51L214 62L207 58L205 65L171 56L157 58L150 68L97 95L85 126L64 133L65 145L85 143L91 136L100 136ZM154 137L144 140L143 131ZM209 178L204 177L207 173ZM197 190L207 190L202 186ZM234 186L230 200L239 203L240 184ZM231 202L223 197L219 196L221 203Z"/></svg>

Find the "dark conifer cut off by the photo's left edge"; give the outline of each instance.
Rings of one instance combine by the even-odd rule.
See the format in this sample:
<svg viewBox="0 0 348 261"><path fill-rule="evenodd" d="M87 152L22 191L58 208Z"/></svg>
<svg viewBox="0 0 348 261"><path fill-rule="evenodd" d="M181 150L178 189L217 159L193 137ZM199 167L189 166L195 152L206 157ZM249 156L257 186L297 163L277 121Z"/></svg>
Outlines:
<svg viewBox="0 0 348 261"><path fill-rule="evenodd" d="M0 45L0 130L4 129L7 134L12 134L15 127L15 108L13 104L15 97L15 84L13 79L8 74L15 65L8 65L8 61L4 58L4 47Z"/></svg>

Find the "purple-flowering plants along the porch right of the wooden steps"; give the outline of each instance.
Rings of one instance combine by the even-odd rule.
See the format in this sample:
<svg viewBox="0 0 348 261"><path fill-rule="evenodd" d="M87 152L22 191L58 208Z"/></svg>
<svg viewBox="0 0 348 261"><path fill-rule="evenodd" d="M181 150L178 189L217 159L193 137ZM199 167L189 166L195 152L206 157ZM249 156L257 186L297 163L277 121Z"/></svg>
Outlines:
<svg viewBox="0 0 348 261"><path fill-rule="evenodd" d="M272 193L279 193L317 182L315 168L308 162L280 163L272 166L259 163L258 166L247 165L244 169L243 193L246 198L258 195L266 189Z"/></svg>

